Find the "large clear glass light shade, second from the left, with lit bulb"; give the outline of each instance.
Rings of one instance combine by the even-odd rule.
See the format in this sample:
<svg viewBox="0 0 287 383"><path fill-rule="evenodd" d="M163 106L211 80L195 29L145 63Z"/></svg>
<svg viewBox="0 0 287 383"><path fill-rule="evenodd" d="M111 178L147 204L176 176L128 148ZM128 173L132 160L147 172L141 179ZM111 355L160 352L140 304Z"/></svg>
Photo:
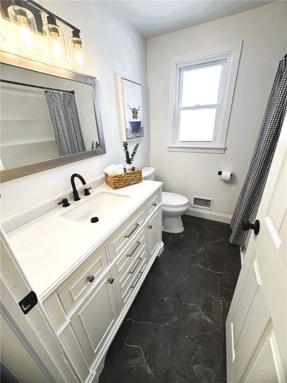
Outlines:
<svg viewBox="0 0 287 383"><path fill-rule="evenodd" d="M10 5L8 13L19 51L29 56L42 54L33 13L18 5Z"/></svg>

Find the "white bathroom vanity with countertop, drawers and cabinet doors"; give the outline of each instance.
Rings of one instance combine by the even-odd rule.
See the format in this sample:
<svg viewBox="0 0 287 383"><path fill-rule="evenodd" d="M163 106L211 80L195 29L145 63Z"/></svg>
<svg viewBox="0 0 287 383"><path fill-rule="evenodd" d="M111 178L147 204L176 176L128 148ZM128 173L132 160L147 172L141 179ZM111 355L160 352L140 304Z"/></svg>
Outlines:
<svg viewBox="0 0 287 383"><path fill-rule="evenodd" d="M113 193L107 188L96 188L91 195L101 191ZM42 230L46 229L47 235L48 226L53 222L54 229L60 230L63 241L68 238L74 241L71 245L65 246L63 243L59 247L57 243L50 244L50 248L44 249L45 255L51 256L51 264L55 262L55 265L58 263L63 268L62 273L50 276L50 282L46 276L45 284L41 276L35 276L35 273L34 277L30 275L30 280L32 286L34 281L33 289L39 295L52 331L81 383L98 382L109 346L154 259L163 251L161 183L143 181L114 193L128 195L129 201L107 217L109 219L106 219L106 225L101 227L101 231L87 225L83 229L83 223L59 215L64 210L59 208L55 209L58 215L49 212L36 219L38 225L41 226L42 222ZM24 253L29 245L24 250L21 244L23 236L27 238L35 224L29 222L8 233L12 244L19 250L20 258L22 253L23 269L26 266L27 271L30 261ZM72 232L75 229L77 232ZM72 239L77 235L80 239ZM36 247L44 245L43 238L43 234L39 236ZM81 248L82 254L79 253ZM52 252L67 257L69 261L58 262L57 255L52 255ZM45 262L48 265L47 259ZM56 268L55 265L51 266L51 270ZM42 290L40 294L37 286Z"/></svg>

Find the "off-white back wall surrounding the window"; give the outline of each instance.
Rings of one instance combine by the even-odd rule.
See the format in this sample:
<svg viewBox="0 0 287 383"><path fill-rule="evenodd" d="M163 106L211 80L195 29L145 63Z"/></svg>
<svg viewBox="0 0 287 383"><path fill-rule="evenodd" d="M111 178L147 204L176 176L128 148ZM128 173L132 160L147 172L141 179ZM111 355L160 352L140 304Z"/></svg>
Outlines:
<svg viewBox="0 0 287 383"><path fill-rule="evenodd" d="M150 166L165 191L190 201L192 195L214 198L211 219L221 219L220 214L230 219L244 183L278 63L287 50L286 5L274 2L147 40ZM239 40L244 42L225 153L168 152L170 57ZM230 183L220 181L220 170L234 173Z"/></svg>

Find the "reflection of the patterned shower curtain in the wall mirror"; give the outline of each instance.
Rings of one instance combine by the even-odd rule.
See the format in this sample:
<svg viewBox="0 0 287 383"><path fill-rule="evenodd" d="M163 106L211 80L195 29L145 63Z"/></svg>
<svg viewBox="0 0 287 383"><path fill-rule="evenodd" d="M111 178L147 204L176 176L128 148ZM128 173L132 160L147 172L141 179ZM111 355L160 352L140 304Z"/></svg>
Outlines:
<svg viewBox="0 0 287 383"><path fill-rule="evenodd" d="M59 156L85 152L75 95L45 90Z"/></svg>

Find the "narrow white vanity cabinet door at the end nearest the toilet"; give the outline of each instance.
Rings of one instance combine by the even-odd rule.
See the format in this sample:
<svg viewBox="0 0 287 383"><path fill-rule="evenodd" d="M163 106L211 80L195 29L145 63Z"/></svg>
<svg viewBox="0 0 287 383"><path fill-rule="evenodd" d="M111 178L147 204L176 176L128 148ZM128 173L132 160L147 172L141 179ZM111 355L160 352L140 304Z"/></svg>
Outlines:
<svg viewBox="0 0 287 383"><path fill-rule="evenodd" d="M153 257L158 246L161 244L161 206L148 219L146 223L146 235L148 246L148 259Z"/></svg>

